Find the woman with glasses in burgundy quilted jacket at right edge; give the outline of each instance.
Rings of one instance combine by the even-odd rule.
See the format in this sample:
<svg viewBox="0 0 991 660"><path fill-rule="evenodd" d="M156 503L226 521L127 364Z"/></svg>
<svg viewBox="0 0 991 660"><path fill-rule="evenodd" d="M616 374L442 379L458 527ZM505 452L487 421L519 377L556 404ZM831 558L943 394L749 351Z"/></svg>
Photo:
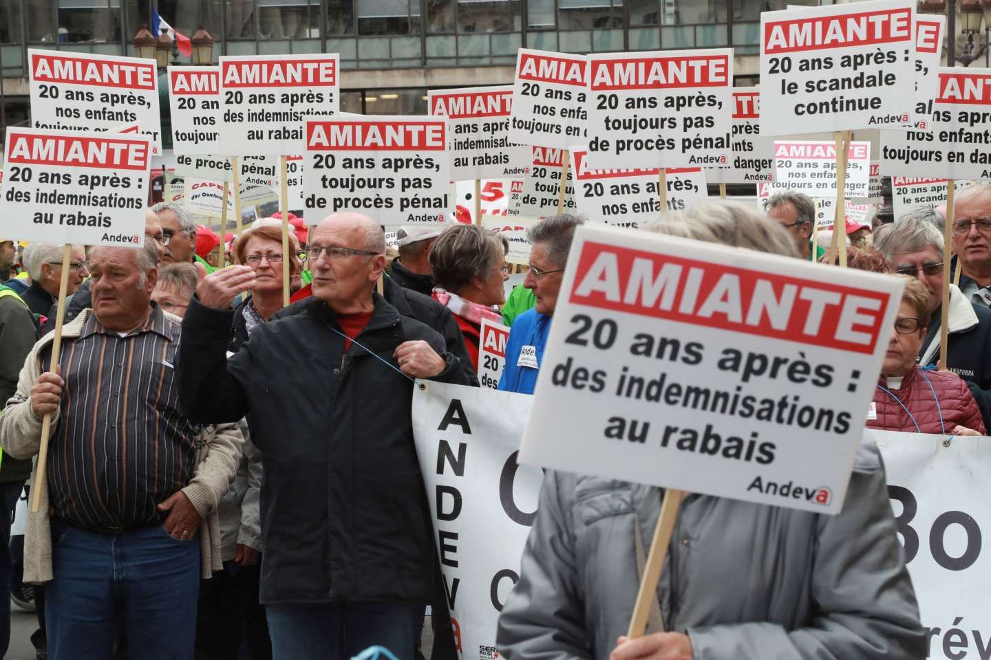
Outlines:
<svg viewBox="0 0 991 660"><path fill-rule="evenodd" d="M916 363L926 336L930 293L916 278L903 277L902 306L891 329L867 425L882 430L983 435L984 422L967 383L955 374L923 369Z"/></svg>

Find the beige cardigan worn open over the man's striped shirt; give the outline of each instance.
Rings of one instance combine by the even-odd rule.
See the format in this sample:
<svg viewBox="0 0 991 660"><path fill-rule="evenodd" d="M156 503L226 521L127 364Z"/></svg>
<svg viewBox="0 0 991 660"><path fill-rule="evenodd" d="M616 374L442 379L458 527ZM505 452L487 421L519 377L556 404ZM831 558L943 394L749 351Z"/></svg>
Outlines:
<svg viewBox="0 0 991 660"><path fill-rule="evenodd" d="M82 325L92 314L84 310L72 323L62 328L62 337L78 337ZM178 317L165 317L179 323ZM17 392L7 402L0 415L0 446L14 458L30 458L38 453L42 437L42 419L31 409L31 388L42 375L39 352L52 342L54 332L42 337L31 349L17 384ZM53 426L57 421L57 413ZM217 505L237 473L244 438L237 424L206 427L196 438L196 472L189 485L182 489L199 513L200 565L203 578L223 568L220 553L220 524ZM35 475L33 488L39 488ZM41 506L37 514L28 508L24 537L24 581L42 584L52 580L52 527L49 520L49 489L42 482ZM33 494L32 494L33 495Z"/></svg>

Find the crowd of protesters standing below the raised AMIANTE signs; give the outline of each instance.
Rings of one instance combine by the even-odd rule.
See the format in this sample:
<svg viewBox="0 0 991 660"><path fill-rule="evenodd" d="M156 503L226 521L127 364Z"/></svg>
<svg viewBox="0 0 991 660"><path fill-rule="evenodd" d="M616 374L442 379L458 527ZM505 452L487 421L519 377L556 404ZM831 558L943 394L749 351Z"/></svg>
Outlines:
<svg viewBox="0 0 991 660"><path fill-rule="evenodd" d="M713 202L643 231L834 259L814 250L809 198L775 195L765 211ZM429 605L432 657L457 658L412 437L414 380L479 386L489 319L510 326L498 388L532 394L582 223L534 226L525 279L508 296L507 241L472 225L401 228L393 254L382 227L339 213L292 232L284 253L280 219L228 243L160 204L143 248L77 246L64 263L60 244L19 256L0 239L8 513L43 420L54 421L45 474L29 486L42 507L27 520L23 562L0 517L0 587L18 570L37 585L38 656L323 660L379 644L406 659L420 654ZM927 210L846 228L851 268L906 281L872 428L983 435L991 424L991 185L954 205L945 359L943 224ZM225 252L232 264L220 267ZM876 447L861 446L835 517L687 497L677 570L663 573L649 634L627 641L660 495L548 471L498 653L926 657Z"/></svg>

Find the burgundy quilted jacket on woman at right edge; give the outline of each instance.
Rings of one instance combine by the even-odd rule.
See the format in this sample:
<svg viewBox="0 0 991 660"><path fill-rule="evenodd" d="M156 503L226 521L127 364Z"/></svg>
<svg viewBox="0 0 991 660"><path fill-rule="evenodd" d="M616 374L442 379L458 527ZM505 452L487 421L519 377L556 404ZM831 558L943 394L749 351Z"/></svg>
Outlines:
<svg viewBox="0 0 991 660"><path fill-rule="evenodd" d="M926 377L933 384L932 390L926 383ZM946 433L952 432L956 424L973 428L981 435L985 433L981 413L966 381L936 371L927 371L926 377L923 376L922 370L916 367L902 380L902 387L894 390L887 386L887 379L882 376L878 384L898 397L912 413L912 417L909 417L891 395L878 387L874 389L877 419L868 420L867 426L880 430L916 431L916 424L919 424L919 428L924 433L942 433L939 425L941 411ZM934 390L936 399L933 397ZM916 424L913 424L912 418L915 418Z"/></svg>

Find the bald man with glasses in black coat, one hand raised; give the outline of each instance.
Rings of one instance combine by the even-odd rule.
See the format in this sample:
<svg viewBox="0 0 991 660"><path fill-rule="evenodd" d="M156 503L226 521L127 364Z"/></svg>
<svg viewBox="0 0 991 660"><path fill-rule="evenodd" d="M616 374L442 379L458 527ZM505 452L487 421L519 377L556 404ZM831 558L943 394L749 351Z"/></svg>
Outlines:
<svg viewBox="0 0 991 660"><path fill-rule="evenodd" d="M467 379L440 334L375 293L378 225L330 216L307 252L313 297L229 360L231 301L254 271L200 282L182 322L180 406L202 424L247 416L265 456L261 601L275 659L344 659L373 644L412 658L433 575L413 378Z"/></svg>

